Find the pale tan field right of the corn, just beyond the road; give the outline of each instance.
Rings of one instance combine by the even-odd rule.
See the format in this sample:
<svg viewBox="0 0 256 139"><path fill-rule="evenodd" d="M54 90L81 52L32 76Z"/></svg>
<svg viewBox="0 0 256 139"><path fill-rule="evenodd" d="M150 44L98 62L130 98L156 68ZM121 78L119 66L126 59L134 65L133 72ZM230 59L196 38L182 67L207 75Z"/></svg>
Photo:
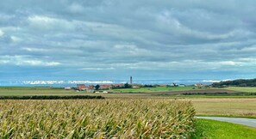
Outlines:
<svg viewBox="0 0 256 139"><path fill-rule="evenodd" d="M200 116L256 118L256 98L193 98Z"/></svg>

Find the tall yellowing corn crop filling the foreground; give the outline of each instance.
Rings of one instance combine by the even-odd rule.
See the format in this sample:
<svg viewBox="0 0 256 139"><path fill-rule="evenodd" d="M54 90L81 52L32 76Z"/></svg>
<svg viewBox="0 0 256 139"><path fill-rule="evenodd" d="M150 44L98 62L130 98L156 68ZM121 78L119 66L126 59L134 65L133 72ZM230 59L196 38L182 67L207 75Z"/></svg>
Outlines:
<svg viewBox="0 0 256 139"><path fill-rule="evenodd" d="M0 100L0 138L190 138L194 115L167 99Z"/></svg>

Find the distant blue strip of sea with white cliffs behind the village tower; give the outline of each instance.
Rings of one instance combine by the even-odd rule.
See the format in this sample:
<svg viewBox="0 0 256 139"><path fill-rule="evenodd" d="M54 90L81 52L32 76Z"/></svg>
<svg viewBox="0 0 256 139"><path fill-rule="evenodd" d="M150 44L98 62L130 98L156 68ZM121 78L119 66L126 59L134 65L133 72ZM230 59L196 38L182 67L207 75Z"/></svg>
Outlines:
<svg viewBox="0 0 256 139"><path fill-rule="evenodd" d="M97 84L119 84L126 83L126 80L105 80L105 81L0 81L0 87L76 87L77 84L97 85ZM219 80L206 79L184 79L184 80L134 80L134 84L185 84L194 85L196 83L212 84L213 82L221 82Z"/></svg>

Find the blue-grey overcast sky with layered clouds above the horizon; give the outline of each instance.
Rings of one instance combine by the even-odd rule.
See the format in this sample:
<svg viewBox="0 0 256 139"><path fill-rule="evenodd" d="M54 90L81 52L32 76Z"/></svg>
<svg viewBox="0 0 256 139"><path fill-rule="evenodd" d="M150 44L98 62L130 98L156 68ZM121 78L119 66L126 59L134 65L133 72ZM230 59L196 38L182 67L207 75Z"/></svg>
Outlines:
<svg viewBox="0 0 256 139"><path fill-rule="evenodd" d="M5 0L0 80L256 77L255 0Z"/></svg>

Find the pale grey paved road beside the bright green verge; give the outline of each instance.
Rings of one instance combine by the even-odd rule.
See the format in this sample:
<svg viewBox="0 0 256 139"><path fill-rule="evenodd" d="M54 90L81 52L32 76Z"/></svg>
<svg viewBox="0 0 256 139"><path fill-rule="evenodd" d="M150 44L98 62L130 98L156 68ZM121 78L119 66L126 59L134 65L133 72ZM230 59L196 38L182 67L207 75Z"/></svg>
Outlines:
<svg viewBox="0 0 256 139"><path fill-rule="evenodd" d="M242 124L256 128L256 119L255 118L224 118L224 117L196 117L196 118L205 118L212 119L223 122L230 122L234 124Z"/></svg>

